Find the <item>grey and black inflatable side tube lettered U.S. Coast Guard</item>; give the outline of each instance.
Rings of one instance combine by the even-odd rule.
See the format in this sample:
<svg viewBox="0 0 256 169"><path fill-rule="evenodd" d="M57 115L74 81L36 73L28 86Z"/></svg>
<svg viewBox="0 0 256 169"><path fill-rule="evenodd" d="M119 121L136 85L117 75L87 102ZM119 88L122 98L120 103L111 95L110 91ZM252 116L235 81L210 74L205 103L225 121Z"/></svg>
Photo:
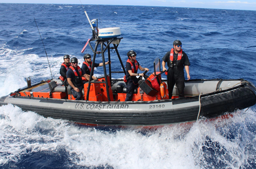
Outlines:
<svg viewBox="0 0 256 169"><path fill-rule="evenodd" d="M254 105L256 96L254 87L246 83L227 90L178 99L99 102L15 95L0 99L0 104L8 103L44 117L88 125L162 125L196 121L202 116L214 118L242 110Z"/></svg>

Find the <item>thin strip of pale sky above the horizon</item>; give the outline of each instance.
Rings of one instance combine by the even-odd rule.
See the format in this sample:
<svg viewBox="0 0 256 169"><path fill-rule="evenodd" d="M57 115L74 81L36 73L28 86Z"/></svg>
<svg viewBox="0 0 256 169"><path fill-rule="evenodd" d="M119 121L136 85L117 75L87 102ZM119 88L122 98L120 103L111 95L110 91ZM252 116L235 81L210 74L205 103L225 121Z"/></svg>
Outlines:
<svg viewBox="0 0 256 169"><path fill-rule="evenodd" d="M185 8L213 8L256 10L256 0L228 1L228 0L0 0L0 3L29 3L29 4L94 4L94 5L135 5L161 6Z"/></svg>

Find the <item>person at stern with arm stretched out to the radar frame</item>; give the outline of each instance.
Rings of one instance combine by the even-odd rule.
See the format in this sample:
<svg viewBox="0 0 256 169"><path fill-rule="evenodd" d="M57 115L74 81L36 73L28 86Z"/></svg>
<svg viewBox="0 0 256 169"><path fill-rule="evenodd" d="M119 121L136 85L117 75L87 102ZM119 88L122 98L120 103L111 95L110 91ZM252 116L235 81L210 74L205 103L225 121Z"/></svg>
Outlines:
<svg viewBox="0 0 256 169"><path fill-rule="evenodd" d="M90 77L90 74L91 74L91 70L92 70L92 56L90 54L85 54L83 55L83 59L84 61L82 62L82 70L84 72L86 72L86 74L89 75ZM108 65L109 64L109 61L105 62L105 65ZM100 64L97 64L97 63L94 63L94 67L97 68L99 66L103 66L103 63L100 63ZM92 77L92 79L97 79L95 76Z"/></svg>

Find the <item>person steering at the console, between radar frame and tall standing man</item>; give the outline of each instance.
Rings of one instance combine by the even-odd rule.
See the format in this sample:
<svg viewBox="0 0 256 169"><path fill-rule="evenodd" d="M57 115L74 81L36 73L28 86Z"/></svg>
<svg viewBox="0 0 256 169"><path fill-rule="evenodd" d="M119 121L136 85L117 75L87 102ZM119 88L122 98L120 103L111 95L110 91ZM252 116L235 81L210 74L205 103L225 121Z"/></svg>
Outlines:
<svg viewBox="0 0 256 169"><path fill-rule="evenodd" d="M127 94L125 101L131 101L133 97L133 91L136 87L138 87L138 78L136 76L143 76L143 73L137 73L138 68L141 71L148 71L147 68L142 68L139 62L136 60L137 53L133 50L127 53L128 59L126 61L126 88Z"/></svg>

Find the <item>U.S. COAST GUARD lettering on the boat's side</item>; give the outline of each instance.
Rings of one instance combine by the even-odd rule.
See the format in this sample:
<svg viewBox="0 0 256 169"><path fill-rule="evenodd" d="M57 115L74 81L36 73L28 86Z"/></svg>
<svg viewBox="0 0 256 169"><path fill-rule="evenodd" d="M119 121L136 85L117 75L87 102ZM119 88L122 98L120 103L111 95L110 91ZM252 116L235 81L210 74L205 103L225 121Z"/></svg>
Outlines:
<svg viewBox="0 0 256 169"><path fill-rule="evenodd" d="M101 110L101 109L111 109L111 110L119 110L119 109L128 109L129 105L127 104L84 104L84 103L76 103L75 109L88 109L88 110Z"/></svg>

